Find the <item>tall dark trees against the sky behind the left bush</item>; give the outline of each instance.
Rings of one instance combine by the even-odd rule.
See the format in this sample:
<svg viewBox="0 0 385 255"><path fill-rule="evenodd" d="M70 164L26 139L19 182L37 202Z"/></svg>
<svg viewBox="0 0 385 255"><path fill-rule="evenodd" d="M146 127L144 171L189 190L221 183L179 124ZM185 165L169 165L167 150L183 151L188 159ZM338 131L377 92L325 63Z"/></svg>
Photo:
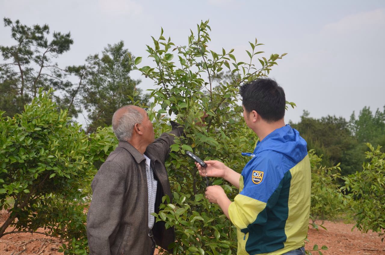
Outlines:
<svg viewBox="0 0 385 255"><path fill-rule="evenodd" d="M108 44L101 54L91 54L82 65L61 67L57 59L68 52L74 40L70 32L50 33L49 25L27 26L19 20L4 18L14 44L0 45L0 109L14 116L44 91L53 88L58 107L68 109L77 118L85 112L86 133L109 125L114 111L139 100L146 104L149 96L137 88L140 80L130 77L132 63L124 42Z"/></svg>

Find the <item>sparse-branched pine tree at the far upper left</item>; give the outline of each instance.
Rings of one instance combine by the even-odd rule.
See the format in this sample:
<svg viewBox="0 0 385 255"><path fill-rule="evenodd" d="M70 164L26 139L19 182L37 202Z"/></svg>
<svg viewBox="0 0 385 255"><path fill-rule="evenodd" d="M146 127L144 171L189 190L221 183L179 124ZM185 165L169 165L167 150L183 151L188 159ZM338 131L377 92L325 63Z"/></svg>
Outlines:
<svg viewBox="0 0 385 255"><path fill-rule="evenodd" d="M47 24L28 27L19 20L3 20L16 44L0 45L4 60L0 64L0 109L6 111L5 115L13 116L37 96L40 87L45 91L49 87L62 91L70 87L70 83L63 81L64 70L53 60L67 52L73 40L69 32L50 35Z"/></svg>

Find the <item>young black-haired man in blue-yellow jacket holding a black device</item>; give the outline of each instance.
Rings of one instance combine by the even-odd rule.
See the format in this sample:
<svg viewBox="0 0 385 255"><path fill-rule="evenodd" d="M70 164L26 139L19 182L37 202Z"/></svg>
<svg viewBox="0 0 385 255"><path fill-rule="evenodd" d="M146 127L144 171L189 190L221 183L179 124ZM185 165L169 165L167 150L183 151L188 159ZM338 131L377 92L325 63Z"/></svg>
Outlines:
<svg viewBox="0 0 385 255"><path fill-rule="evenodd" d="M206 198L217 203L237 228L238 255L296 255L303 248L310 213L311 173L306 141L285 125L285 92L271 79L244 84L243 117L257 134L250 161L239 174L223 163L205 161L201 176L221 177L239 188L231 202L221 186Z"/></svg>

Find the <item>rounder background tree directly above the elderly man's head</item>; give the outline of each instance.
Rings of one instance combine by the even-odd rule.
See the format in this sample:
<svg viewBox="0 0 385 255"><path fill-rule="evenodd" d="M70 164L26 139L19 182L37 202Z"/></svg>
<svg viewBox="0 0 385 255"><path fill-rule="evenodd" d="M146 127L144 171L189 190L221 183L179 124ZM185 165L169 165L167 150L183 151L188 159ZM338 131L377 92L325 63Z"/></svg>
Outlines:
<svg viewBox="0 0 385 255"><path fill-rule="evenodd" d="M86 64L67 67L67 70L79 78L74 93L65 103L69 109L80 105L87 111L90 124L86 133L94 132L97 127L110 125L112 115L121 106L139 101L147 104L149 96L140 96L142 92L136 86L140 80L130 77L132 63L130 52L124 49L124 42L107 45L102 54L90 55Z"/></svg>

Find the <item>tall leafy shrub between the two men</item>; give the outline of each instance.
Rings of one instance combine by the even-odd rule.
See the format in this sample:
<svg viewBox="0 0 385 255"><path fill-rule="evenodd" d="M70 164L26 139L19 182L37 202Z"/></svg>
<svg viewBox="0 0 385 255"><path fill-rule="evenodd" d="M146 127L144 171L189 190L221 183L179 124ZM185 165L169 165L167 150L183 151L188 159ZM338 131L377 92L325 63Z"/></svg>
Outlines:
<svg viewBox="0 0 385 255"><path fill-rule="evenodd" d="M218 255L236 253L236 230L218 205L208 203L204 198L205 181L197 173L193 161L184 156L185 151L194 151L203 159L220 159L237 171L241 171L248 158L241 151L253 151L256 138L246 127L238 102L238 88L245 82L269 74L271 67L283 55L272 54L269 59L261 57L263 52L255 40L247 50L249 60L237 61L233 49L222 49L221 53L209 50L208 21L198 24L196 34L188 36L186 46L176 46L171 38L161 35L152 37L153 47L147 45L149 57L154 66L139 67L142 58L137 57L134 69L152 79L159 89L152 90L154 102L150 116L154 119L154 129L161 133L167 126L166 114L175 114L176 121L184 126L186 138L176 139L171 146L170 158L166 162L169 169L173 198L164 198L157 221L166 221L166 226L174 226L177 241L173 244L173 254ZM175 52L175 53L173 53ZM228 79L213 79L228 71ZM214 82L215 80L215 82ZM161 109L154 111L154 107ZM206 126L196 125L204 112ZM211 180L214 185L222 185L230 198L238 193L233 186L223 180ZM173 201L171 201L173 200ZM164 252L164 251L162 251Z"/></svg>

